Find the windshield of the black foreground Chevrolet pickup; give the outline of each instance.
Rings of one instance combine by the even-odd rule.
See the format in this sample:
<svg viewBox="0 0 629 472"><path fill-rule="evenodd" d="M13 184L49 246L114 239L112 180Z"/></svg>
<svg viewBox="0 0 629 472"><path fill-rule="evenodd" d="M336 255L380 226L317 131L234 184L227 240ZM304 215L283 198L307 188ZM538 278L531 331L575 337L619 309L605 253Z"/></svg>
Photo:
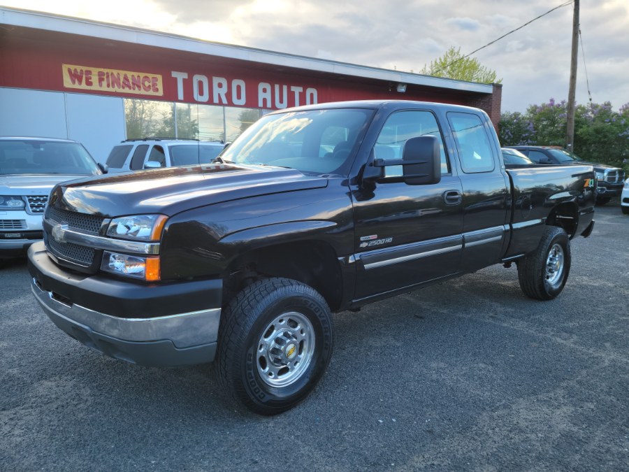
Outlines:
<svg viewBox="0 0 629 472"><path fill-rule="evenodd" d="M221 158L305 173L346 174L358 138L372 115L373 110L361 108L266 115L224 150Z"/></svg>

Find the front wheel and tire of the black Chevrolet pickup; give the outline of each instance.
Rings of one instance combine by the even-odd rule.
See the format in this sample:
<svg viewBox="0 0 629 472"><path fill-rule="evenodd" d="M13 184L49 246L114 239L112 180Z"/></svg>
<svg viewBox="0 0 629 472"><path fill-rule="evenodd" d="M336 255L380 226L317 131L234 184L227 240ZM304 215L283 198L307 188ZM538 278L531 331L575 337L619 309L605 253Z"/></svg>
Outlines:
<svg viewBox="0 0 629 472"><path fill-rule="evenodd" d="M312 391L332 355L324 298L296 280L268 278L243 289L222 314L219 380L262 415L295 406Z"/></svg>

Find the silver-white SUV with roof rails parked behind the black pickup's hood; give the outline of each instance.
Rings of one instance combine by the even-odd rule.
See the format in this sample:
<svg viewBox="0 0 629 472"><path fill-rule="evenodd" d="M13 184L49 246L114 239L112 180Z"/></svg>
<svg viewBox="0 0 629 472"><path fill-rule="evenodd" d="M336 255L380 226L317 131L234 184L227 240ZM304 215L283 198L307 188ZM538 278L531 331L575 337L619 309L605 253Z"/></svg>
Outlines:
<svg viewBox="0 0 629 472"><path fill-rule="evenodd" d="M139 171L156 167L209 164L225 145L193 139L127 139L115 145L107 165L110 173Z"/></svg>

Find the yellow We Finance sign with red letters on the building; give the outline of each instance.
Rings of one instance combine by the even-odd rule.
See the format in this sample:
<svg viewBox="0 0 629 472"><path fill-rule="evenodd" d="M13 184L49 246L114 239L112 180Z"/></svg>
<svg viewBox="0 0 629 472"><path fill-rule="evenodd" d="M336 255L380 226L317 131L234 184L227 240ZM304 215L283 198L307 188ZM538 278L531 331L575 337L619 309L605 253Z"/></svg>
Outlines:
<svg viewBox="0 0 629 472"><path fill-rule="evenodd" d="M139 95L163 96L161 75L62 64L64 87Z"/></svg>

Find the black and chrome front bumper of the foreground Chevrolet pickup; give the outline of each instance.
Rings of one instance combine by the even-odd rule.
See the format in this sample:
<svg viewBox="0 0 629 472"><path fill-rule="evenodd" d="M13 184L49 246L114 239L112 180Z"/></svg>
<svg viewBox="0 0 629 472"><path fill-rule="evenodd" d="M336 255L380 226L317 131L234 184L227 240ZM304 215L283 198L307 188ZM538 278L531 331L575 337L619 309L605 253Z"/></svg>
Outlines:
<svg viewBox="0 0 629 472"><path fill-rule="evenodd" d="M221 308L217 308L222 290L219 280L139 285L77 275L56 266L43 243L29 249L29 272L32 292L50 320L90 348L145 366L185 366L214 360L221 315ZM93 301L94 290L101 292L100 305ZM135 292L135 300L129 305L125 297L131 292ZM128 315L113 309L124 305L131 307ZM164 311L164 307L171 308Z"/></svg>

